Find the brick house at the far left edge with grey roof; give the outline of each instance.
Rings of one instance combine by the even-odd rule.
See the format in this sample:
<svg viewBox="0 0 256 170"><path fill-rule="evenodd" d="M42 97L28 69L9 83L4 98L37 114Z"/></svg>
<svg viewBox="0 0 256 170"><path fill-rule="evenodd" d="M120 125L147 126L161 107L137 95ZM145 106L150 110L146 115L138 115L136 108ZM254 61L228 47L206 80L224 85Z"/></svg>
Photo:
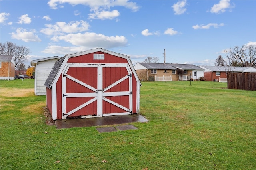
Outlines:
<svg viewBox="0 0 256 170"><path fill-rule="evenodd" d="M14 80L15 61L13 55L0 55L0 79Z"/></svg>

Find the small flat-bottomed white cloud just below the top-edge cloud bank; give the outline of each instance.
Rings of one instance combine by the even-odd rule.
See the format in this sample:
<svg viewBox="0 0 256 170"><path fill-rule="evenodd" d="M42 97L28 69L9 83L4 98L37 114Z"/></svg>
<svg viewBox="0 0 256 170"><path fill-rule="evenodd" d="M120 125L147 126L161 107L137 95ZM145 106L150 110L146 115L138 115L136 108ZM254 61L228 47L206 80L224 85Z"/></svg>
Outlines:
<svg viewBox="0 0 256 170"><path fill-rule="evenodd" d="M113 19L116 18L120 15L118 10L113 10L113 11L95 11L93 14L89 14L89 19L100 19L100 20L105 20L105 19Z"/></svg>

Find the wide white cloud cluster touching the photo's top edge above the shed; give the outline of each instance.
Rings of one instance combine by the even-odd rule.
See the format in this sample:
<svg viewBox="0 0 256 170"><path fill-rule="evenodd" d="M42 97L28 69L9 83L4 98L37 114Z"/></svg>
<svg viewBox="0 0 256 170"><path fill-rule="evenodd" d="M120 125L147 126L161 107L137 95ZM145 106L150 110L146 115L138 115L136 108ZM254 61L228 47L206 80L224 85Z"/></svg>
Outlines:
<svg viewBox="0 0 256 170"><path fill-rule="evenodd" d="M123 6L125 8L131 9L136 12L139 10L138 5L135 2L130 2L129 0L50 0L48 5L52 9L57 9L60 4L68 3L72 6L81 4L84 6L89 6L90 11L94 13L89 14L90 19L113 19L119 16L117 10L109 11L110 8L114 6ZM76 13L75 13L76 14Z"/></svg>

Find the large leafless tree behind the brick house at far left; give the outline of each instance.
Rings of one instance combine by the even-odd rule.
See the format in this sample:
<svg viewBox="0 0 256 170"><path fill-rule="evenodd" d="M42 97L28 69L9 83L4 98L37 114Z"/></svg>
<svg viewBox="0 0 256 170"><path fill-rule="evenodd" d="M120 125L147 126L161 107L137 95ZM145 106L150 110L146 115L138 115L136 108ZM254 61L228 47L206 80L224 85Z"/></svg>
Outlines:
<svg viewBox="0 0 256 170"><path fill-rule="evenodd" d="M0 55L13 55L15 67L28 58L30 49L26 46L18 46L12 42L0 43Z"/></svg>

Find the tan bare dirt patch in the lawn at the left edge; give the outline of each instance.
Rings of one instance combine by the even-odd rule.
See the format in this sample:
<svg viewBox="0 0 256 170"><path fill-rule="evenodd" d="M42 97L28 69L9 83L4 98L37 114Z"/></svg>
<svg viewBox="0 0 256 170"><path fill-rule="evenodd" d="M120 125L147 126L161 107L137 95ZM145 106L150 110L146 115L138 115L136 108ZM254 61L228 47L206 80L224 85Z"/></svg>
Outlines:
<svg viewBox="0 0 256 170"><path fill-rule="evenodd" d="M34 95L34 89L1 88L1 96L4 97L28 97Z"/></svg>

